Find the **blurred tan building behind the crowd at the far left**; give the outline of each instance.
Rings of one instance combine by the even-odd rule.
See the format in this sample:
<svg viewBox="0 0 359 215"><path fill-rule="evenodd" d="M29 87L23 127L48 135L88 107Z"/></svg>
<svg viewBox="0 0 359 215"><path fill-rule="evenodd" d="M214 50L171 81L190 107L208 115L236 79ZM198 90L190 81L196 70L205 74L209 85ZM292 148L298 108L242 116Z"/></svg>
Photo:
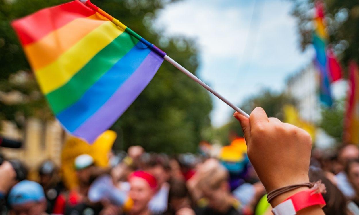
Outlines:
<svg viewBox="0 0 359 215"><path fill-rule="evenodd" d="M61 149L65 132L58 121L41 121L35 118L27 119L26 126L20 130L10 121L2 121L1 136L23 141L19 149L0 147L0 153L6 158L18 158L33 172L45 159L51 159L60 165Z"/></svg>

